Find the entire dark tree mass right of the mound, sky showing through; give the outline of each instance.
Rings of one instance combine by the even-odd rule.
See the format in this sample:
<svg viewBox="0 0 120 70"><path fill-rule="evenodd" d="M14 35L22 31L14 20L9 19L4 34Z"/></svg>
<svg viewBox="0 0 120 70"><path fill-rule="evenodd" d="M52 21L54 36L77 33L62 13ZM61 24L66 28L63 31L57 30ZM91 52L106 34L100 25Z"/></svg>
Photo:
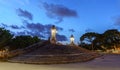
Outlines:
<svg viewBox="0 0 120 70"><path fill-rule="evenodd" d="M120 32L117 29L105 31L103 34L88 32L80 37L82 47L89 50L115 49L120 47Z"/></svg>

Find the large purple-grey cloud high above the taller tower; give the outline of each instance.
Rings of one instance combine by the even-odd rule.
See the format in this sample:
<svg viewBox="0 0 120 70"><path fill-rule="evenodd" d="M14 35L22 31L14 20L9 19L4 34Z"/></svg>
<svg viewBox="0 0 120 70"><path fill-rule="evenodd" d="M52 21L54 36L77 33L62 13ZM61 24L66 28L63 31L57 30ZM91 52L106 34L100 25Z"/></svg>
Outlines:
<svg viewBox="0 0 120 70"><path fill-rule="evenodd" d="M69 9L63 5L56 5L56 4L48 4L43 3L43 7L46 11L46 15L49 18L57 19L56 23L60 23L63 21L65 17L78 17L78 14L75 10Z"/></svg>

